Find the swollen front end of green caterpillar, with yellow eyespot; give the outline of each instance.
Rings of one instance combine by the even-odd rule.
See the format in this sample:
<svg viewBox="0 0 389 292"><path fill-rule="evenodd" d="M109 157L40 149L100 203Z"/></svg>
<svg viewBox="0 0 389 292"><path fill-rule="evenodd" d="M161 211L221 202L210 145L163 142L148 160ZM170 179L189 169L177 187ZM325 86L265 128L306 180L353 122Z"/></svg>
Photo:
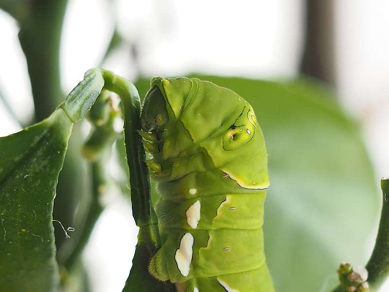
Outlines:
<svg viewBox="0 0 389 292"><path fill-rule="evenodd" d="M141 124L159 143L146 146L161 154L155 156L159 164L202 151L204 164L191 171L219 168L243 187L268 186L265 142L254 110L229 89L196 78L155 77L143 102ZM177 165L162 165L170 179L185 175ZM175 167L180 173L174 174Z"/></svg>

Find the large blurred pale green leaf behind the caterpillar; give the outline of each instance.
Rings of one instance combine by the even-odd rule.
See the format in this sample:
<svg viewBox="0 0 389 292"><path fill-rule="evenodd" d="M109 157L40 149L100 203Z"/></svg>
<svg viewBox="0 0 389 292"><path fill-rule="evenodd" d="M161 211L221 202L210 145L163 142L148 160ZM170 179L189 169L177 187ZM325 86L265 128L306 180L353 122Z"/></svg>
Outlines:
<svg viewBox="0 0 389 292"><path fill-rule="evenodd" d="M277 291L327 291L340 262L364 265L379 208L358 129L333 94L307 79L277 83L195 75L255 110L269 155L265 254ZM143 96L149 80L137 88ZM322 290L325 291L325 290Z"/></svg>

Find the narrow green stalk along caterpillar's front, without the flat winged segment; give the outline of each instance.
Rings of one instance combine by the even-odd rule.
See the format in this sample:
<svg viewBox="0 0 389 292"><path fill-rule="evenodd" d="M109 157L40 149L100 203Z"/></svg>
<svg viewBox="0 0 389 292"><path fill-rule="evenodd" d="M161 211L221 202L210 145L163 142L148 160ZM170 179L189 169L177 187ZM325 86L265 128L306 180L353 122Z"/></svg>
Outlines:
<svg viewBox="0 0 389 292"><path fill-rule="evenodd" d="M115 92L122 100L132 214L139 226L133 266L123 291L144 291L146 285L147 291L173 292L176 291L174 284L158 281L148 273L149 260L159 250L160 238L157 216L151 203L150 178L142 138L138 132L141 129L141 100L137 89L128 80L105 70L102 73L104 88Z"/></svg>

